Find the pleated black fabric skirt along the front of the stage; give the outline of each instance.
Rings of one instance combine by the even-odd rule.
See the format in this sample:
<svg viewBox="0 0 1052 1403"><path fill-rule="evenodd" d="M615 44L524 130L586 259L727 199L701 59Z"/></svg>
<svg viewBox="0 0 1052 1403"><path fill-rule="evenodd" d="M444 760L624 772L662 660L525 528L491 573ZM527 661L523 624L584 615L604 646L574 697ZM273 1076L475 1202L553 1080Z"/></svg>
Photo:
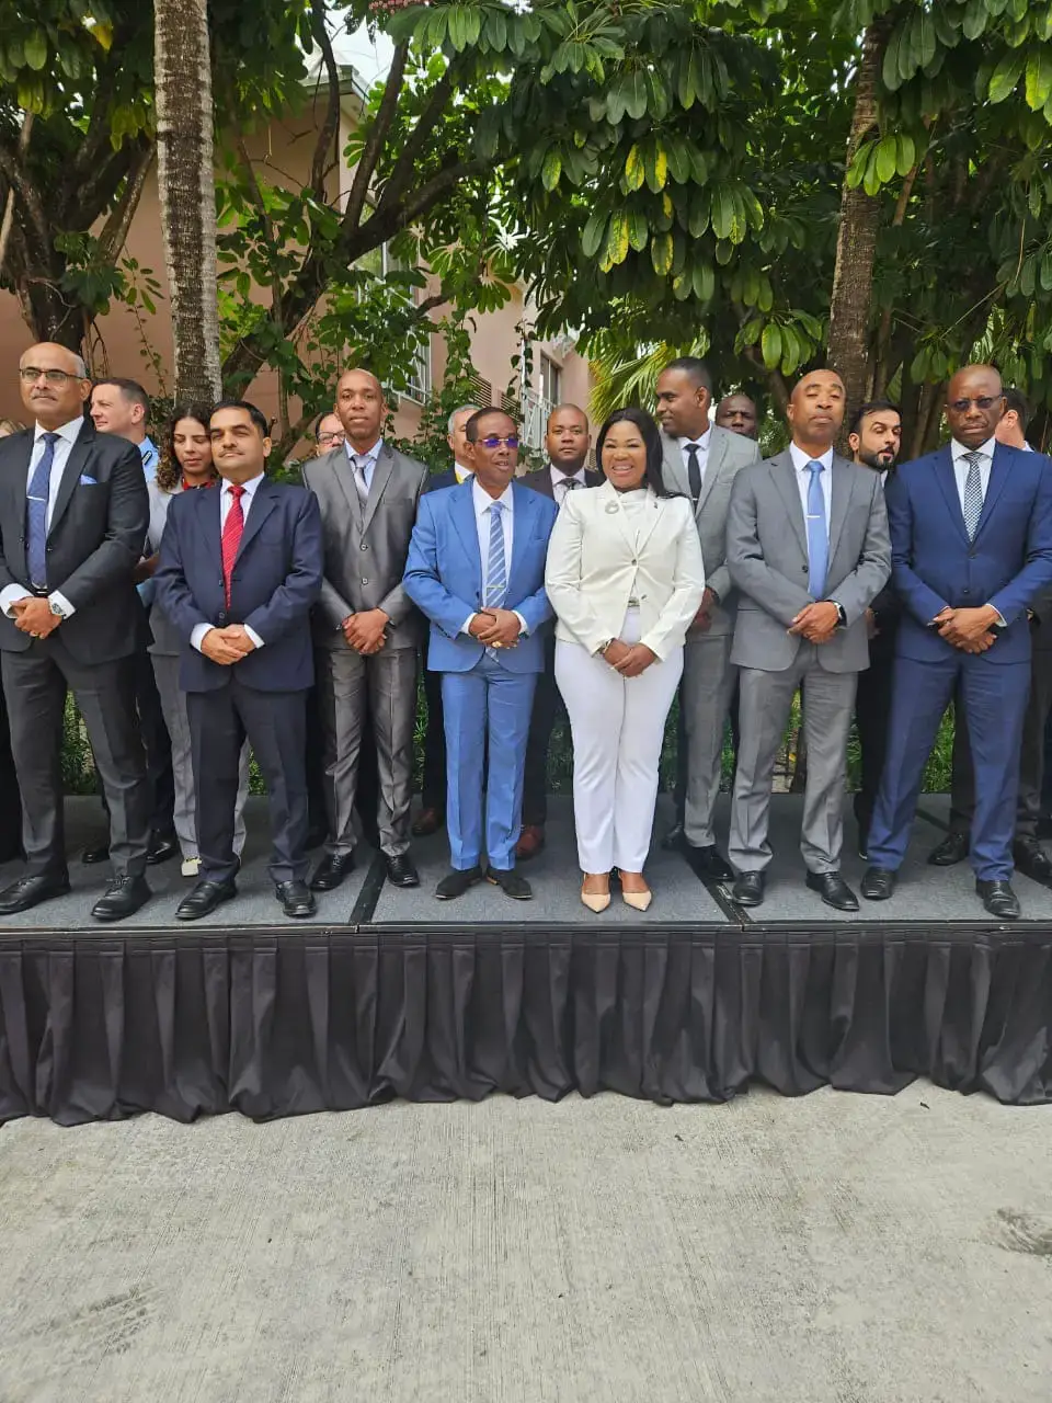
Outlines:
<svg viewBox="0 0 1052 1403"><path fill-rule="evenodd" d="M574 929L0 943L0 1118L391 1097L1052 1100L1052 934Z"/></svg>

